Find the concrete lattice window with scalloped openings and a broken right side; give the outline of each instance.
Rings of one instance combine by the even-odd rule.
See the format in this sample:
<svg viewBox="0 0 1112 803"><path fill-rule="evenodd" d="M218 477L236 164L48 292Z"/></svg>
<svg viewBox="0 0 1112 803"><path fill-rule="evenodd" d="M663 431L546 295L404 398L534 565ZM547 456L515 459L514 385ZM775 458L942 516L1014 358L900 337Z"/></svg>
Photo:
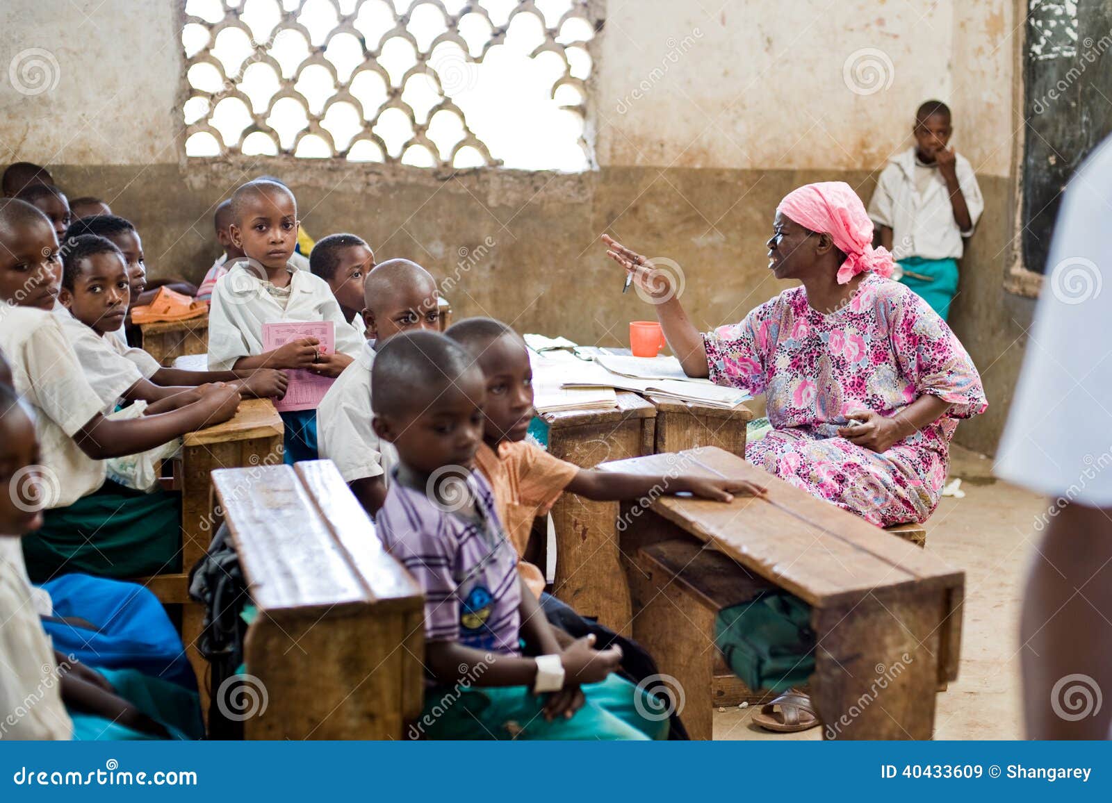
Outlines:
<svg viewBox="0 0 1112 803"><path fill-rule="evenodd" d="M584 170L598 0L188 0L186 155Z"/></svg>

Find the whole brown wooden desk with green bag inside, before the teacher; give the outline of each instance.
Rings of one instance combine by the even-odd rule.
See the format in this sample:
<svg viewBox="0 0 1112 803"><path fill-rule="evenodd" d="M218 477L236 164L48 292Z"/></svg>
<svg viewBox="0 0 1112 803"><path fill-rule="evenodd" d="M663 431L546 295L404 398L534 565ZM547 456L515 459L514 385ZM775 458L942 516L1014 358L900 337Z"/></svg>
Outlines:
<svg viewBox="0 0 1112 803"><path fill-rule="evenodd" d="M930 738L935 692L957 674L964 574L722 449L678 457L602 468L661 474L682 462L691 472L770 489L767 499L738 497L724 505L661 496L639 516L628 505L623 510L631 524L622 549L636 556L633 636L684 688L692 735L711 736L704 712L713 705L714 613L735 593L741 598L728 604L752 598L759 578L764 587L772 584L812 606L817 650L810 685L824 737ZM736 563L737 574L707 579L707 558L689 569L679 547L661 546L689 545L693 538ZM718 575L728 575L721 559L709 559L718 561L712 565ZM677 577L684 581L672 591Z"/></svg>

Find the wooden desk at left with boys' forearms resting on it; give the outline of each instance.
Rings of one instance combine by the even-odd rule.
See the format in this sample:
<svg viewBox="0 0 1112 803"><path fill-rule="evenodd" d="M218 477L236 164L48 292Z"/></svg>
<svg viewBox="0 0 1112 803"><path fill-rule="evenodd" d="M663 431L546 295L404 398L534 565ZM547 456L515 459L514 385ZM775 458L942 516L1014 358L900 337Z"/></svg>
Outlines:
<svg viewBox="0 0 1112 803"><path fill-rule="evenodd" d="M244 399L236 415L222 424L188 433L182 438L175 485L181 489L181 572L137 579L163 605L181 605L181 638L198 678L208 665L197 651L203 608L189 598L189 571L208 548L216 532L211 479L216 468L267 466L282 462L284 427L270 399ZM202 684L203 686L203 684Z"/></svg>

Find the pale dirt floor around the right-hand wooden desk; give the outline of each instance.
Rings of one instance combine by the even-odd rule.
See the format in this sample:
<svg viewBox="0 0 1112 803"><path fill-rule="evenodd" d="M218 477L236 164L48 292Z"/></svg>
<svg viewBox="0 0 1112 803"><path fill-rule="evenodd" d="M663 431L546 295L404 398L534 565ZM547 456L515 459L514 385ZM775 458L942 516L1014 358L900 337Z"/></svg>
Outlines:
<svg viewBox="0 0 1112 803"><path fill-rule="evenodd" d="M1022 738L1020 595L1045 503L994 479L987 458L954 447L950 476L965 498L944 497L927 523L926 548L965 572L965 621L957 681L939 695L935 738ZM719 710L716 740L821 738L821 730L774 734L753 708Z"/></svg>

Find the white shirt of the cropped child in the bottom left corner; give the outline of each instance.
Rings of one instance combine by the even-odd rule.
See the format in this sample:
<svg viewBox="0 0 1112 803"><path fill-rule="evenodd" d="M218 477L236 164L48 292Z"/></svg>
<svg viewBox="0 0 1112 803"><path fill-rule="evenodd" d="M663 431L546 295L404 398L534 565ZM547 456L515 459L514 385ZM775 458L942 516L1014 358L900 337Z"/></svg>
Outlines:
<svg viewBox="0 0 1112 803"><path fill-rule="evenodd" d="M19 545L18 538L0 539ZM11 555L0 549L0 741L69 740L73 723L62 704L53 647L39 622L22 558L16 565Z"/></svg>

